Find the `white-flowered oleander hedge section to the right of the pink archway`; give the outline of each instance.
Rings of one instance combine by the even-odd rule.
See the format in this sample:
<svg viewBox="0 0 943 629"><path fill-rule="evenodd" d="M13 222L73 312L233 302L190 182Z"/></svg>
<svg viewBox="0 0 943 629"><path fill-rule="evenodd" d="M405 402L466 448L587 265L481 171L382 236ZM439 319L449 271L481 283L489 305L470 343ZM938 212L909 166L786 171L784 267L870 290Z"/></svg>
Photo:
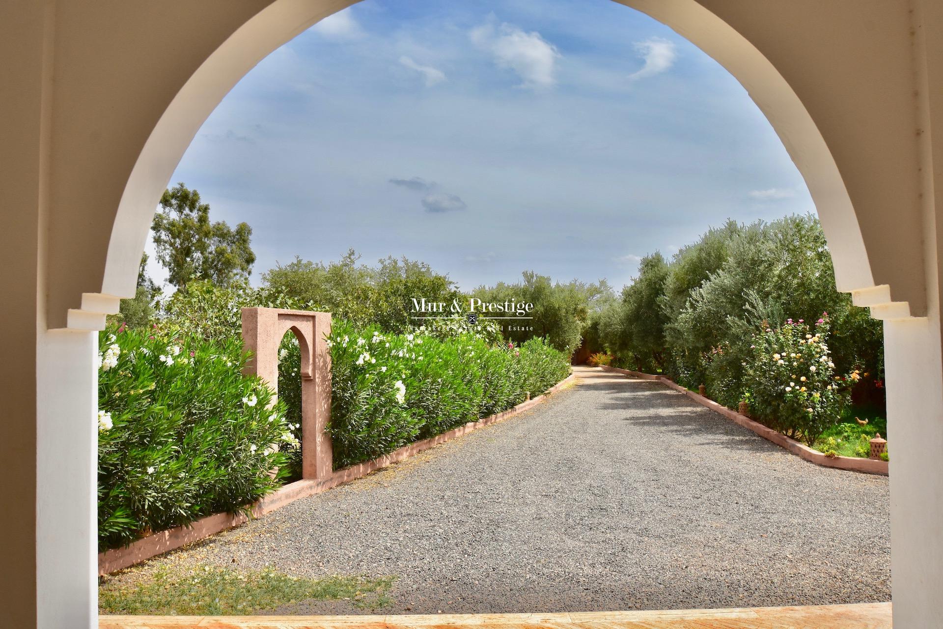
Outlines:
<svg viewBox="0 0 943 629"><path fill-rule="evenodd" d="M570 372L566 356L542 339L518 349L467 334L384 334L341 321L329 342L336 468L506 410Z"/></svg>

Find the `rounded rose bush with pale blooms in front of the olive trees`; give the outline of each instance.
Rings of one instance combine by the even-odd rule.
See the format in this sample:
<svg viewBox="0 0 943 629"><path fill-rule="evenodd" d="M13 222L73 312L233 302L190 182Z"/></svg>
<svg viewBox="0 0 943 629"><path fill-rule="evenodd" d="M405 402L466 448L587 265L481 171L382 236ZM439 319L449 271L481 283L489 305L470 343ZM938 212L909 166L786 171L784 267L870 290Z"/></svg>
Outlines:
<svg viewBox="0 0 943 629"><path fill-rule="evenodd" d="M809 445L839 422L850 399L844 379L834 375L828 336L827 314L814 331L802 320L791 319L764 328L754 335L752 359L745 366L753 415ZM858 377L852 372L847 379Z"/></svg>

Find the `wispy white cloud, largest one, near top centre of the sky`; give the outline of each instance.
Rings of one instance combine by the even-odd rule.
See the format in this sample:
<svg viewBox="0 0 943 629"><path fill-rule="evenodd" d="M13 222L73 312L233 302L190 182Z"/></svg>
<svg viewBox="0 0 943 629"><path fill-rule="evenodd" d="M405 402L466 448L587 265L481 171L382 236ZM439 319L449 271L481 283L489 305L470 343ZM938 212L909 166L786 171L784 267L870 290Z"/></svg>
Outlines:
<svg viewBox="0 0 943 629"><path fill-rule="evenodd" d="M525 33L518 26L488 23L472 28L472 43L491 53L499 68L521 77L521 88L541 89L554 85L554 65L560 54L537 31Z"/></svg>

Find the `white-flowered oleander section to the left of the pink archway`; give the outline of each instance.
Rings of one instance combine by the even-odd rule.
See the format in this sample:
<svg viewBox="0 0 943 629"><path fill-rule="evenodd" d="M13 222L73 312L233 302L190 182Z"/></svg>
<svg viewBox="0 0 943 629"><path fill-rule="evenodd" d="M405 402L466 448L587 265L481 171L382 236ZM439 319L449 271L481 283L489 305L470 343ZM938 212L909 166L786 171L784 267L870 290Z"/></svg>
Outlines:
<svg viewBox="0 0 943 629"><path fill-rule="evenodd" d="M100 548L238 511L280 484L284 408L241 374L239 338L111 327L99 347Z"/></svg>

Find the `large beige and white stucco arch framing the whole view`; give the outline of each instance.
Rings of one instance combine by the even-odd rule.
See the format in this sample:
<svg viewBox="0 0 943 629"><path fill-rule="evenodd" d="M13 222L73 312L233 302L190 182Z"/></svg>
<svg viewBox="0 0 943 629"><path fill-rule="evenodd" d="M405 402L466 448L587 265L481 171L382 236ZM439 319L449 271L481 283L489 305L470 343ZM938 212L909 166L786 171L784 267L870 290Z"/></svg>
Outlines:
<svg viewBox="0 0 943 629"><path fill-rule="evenodd" d="M839 289L885 319L894 623L943 627L943 3L617 1L750 91L805 177ZM243 74L350 4L0 3L0 387L15 420L0 422L0 607L16 626L95 623L95 330L134 294L174 166Z"/></svg>

